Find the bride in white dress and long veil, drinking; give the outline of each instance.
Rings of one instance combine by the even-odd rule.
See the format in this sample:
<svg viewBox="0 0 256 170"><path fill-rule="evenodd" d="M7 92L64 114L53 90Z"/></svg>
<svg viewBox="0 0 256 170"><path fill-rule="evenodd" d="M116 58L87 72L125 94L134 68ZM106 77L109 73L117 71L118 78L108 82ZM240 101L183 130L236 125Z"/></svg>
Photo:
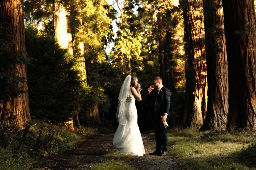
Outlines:
<svg viewBox="0 0 256 170"><path fill-rule="evenodd" d="M141 101L140 87L138 78L128 75L119 92L117 108L119 125L113 139L113 145L117 148L115 153L117 154L131 154L134 156L145 154L135 106L136 99Z"/></svg>

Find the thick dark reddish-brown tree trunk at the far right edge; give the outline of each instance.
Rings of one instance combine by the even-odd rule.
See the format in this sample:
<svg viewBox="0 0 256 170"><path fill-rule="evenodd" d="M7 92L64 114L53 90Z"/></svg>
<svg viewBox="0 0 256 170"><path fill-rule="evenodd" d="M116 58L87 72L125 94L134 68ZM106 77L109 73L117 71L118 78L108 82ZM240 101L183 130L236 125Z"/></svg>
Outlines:
<svg viewBox="0 0 256 170"><path fill-rule="evenodd" d="M253 0L223 1L228 74L228 127L256 124L256 20Z"/></svg>

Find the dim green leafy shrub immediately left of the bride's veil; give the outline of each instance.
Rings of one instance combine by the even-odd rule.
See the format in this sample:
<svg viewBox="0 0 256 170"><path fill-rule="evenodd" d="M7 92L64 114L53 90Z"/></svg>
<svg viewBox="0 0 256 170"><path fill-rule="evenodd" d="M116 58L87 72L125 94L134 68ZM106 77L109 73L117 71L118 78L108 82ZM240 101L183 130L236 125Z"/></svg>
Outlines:
<svg viewBox="0 0 256 170"><path fill-rule="evenodd" d="M86 62L91 60L88 58ZM125 75L121 74L120 68L113 68L109 62L88 64L86 70L87 83L92 85L92 101L99 103L102 112L111 113L106 117L115 119L118 94Z"/></svg>

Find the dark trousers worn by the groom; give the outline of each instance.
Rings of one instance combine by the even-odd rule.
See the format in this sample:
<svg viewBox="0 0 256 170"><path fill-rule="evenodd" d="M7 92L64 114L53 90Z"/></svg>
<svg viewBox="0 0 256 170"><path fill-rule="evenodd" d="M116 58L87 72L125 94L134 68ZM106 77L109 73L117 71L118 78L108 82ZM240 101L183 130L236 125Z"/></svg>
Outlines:
<svg viewBox="0 0 256 170"><path fill-rule="evenodd" d="M155 116L154 119L154 132L157 141L156 151L167 151L168 138L167 131L160 116Z"/></svg>

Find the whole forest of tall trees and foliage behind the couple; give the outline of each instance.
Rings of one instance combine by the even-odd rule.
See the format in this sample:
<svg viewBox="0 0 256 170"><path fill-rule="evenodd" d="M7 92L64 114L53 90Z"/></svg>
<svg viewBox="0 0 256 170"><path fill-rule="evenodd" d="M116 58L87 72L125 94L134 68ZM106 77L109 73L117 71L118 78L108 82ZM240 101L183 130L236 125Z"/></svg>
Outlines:
<svg viewBox="0 0 256 170"><path fill-rule="evenodd" d="M172 94L171 127L255 130L253 0L0 5L2 122L115 129L119 89L130 74L143 89L141 131L151 128L147 88L155 76Z"/></svg>

